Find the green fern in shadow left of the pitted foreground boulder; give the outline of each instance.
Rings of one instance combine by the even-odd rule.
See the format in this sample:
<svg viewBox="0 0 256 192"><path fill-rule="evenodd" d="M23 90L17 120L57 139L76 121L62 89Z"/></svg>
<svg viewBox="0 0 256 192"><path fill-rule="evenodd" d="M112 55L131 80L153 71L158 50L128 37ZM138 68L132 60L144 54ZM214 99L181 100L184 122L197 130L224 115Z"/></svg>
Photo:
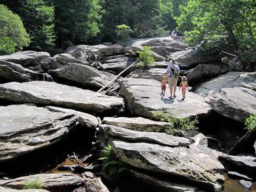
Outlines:
<svg viewBox="0 0 256 192"><path fill-rule="evenodd" d="M104 147L104 150L101 152L103 153L103 157L99 158L99 160L104 161L102 166L106 173L108 173L110 176L117 176L125 172L127 167L123 162L116 159L116 155L111 144Z"/></svg>

